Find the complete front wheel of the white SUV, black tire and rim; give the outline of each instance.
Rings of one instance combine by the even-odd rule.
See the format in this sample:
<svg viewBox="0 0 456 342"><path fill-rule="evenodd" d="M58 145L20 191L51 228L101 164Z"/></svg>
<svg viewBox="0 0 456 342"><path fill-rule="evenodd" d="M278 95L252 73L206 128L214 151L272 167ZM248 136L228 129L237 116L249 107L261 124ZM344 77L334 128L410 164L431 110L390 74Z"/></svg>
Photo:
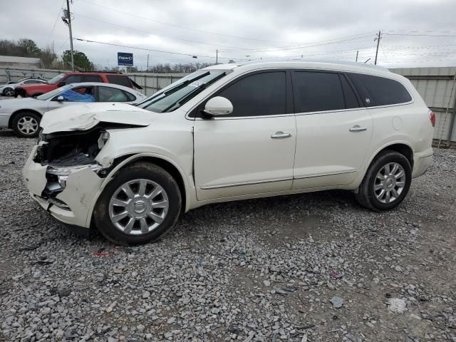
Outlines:
<svg viewBox="0 0 456 342"><path fill-rule="evenodd" d="M144 196L140 184L146 184L142 187ZM130 195L128 187L133 192ZM93 220L100 233L115 244L145 244L156 242L170 232L181 207L182 198L174 178L162 167L136 162L118 171L105 187L95 204ZM132 224L131 220L135 222Z"/></svg>

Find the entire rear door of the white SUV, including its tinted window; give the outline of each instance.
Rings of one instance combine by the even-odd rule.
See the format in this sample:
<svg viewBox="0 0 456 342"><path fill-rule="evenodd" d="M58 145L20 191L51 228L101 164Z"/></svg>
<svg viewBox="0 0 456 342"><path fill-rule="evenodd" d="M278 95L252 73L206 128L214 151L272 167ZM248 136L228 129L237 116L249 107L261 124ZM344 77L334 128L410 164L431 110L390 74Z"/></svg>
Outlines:
<svg viewBox="0 0 456 342"><path fill-rule="evenodd" d="M371 142L373 120L345 75L294 71L296 157L293 189L353 182Z"/></svg>

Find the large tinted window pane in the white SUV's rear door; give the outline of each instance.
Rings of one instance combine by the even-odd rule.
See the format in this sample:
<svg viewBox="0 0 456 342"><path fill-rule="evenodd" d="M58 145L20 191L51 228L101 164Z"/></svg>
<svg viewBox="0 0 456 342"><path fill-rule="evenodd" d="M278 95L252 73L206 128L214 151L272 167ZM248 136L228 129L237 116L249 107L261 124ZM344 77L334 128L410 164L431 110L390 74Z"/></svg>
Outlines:
<svg viewBox="0 0 456 342"><path fill-rule="evenodd" d="M295 113L345 109L337 73L296 71L293 78Z"/></svg>

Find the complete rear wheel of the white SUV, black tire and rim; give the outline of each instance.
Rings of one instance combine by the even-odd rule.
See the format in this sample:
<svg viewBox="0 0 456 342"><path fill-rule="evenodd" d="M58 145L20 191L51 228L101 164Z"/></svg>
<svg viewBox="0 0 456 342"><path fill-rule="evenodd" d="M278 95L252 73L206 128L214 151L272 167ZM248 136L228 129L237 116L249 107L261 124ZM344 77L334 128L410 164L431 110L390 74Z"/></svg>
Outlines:
<svg viewBox="0 0 456 342"><path fill-rule="evenodd" d="M383 212L403 202L411 182L408 159L399 152L385 150L371 162L355 198L361 206Z"/></svg>

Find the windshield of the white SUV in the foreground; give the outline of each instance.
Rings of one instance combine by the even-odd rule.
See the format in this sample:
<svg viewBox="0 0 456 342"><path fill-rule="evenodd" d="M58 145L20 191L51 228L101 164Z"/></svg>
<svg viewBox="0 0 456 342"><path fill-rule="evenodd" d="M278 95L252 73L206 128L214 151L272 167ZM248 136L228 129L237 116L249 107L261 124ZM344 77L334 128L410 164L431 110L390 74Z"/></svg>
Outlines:
<svg viewBox="0 0 456 342"><path fill-rule="evenodd" d="M165 113L179 108L201 90L225 76L223 70L200 70L192 73L139 103L139 108Z"/></svg>

